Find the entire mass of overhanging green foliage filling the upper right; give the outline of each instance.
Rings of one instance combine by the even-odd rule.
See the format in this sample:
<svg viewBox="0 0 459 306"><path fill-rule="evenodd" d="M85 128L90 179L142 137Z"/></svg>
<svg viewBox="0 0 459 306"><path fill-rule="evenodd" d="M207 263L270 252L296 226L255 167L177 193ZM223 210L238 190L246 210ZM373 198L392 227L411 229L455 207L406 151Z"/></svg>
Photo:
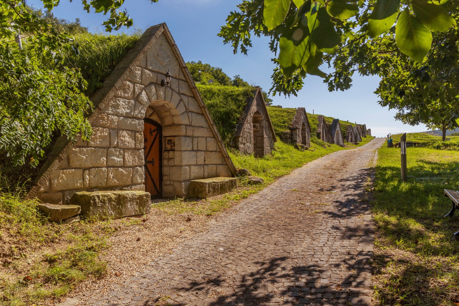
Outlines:
<svg viewBox="0 0 459 306"><path fill-rule="evenodd" d="M414 103L420 117L429 120L437 115L429 109L432 103L421 102L422 99L457 103L457 83L453 83L455 76L452 76L455 68L439 67L457 66L455 3L453 0L244 0L237 6L238 11L230 13L218 35L225 44L233 46L235 53L244 54L252 46L253 36L269 37L276 65L271 88L274 94L296 95L307 74L324 78L330 90L347 89L353 73L358 71L383 78L377 91L382 105L403 108ZM442 64L437 63L439 57ZM455 65L449 65L452 62ZM328 75L321 70L326 63L334 68ZM402 88L402 84L410 83L408 78L417 76L422 80L427 74L432 78L431 85L426 82L417 84L418 87L413 85L411 91ZM436 86L447 93L439 93ZM429 87L430 94L421 94L421 87ZM398 98L394 98L394 90Z"/></svg>

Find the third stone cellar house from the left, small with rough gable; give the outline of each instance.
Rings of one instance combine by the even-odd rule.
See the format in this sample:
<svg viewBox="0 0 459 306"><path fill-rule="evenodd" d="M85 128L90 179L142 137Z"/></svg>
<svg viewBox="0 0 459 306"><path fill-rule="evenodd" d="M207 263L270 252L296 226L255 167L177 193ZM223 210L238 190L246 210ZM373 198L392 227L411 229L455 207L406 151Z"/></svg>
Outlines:
<svg viewBox="0 0 459 306"><path fill-rule="evenodd" d="M304 107L297 108L288 128L281 135L282 141L296 144L298 147L304 146L304 149L308 149L311 146L311 125Z"/></svg>

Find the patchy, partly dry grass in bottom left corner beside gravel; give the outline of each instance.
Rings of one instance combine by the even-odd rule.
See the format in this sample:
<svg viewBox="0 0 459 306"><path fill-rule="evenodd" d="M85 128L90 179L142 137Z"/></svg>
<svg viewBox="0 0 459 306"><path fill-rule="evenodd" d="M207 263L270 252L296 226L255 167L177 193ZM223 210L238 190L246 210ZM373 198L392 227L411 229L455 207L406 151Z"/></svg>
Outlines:
<svg viewBox="0 0 459 306"><path fill-rule="evenodd" d="M111 221L48 223L36 200L0 193L0 306L32 305L102 278Z"/></svg>

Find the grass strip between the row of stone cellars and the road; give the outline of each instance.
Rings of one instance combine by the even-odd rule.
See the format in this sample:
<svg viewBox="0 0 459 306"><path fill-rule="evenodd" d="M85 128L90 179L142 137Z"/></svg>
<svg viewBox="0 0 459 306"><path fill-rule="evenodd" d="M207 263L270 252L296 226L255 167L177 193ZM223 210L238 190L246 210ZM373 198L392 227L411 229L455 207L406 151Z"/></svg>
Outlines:
<svg viewBox="0 0 459 306"><path fill-rule="evenodd" d="M299 151L291 144L278 141L274 144L271 155L258 158L253 155L242 155L236 150L230 150L229 156L236 168L246 168L252 175L263 178L264 184L249 185L245 177L239 178L239 188L228 194L213 199L174 199L168 202L159 203L153 207L168 214L194 213L198 215L212 216L224 211L250 195L257 193L264 187L273 183L276 179L289 174L292 170L302 167L309 161L325 156L338 150L346 150L364 145L374 137L364 139L359 145L349 145L342 148L338 145L327 145L317 137L311 138L311 148L307 151Z"/></svg>

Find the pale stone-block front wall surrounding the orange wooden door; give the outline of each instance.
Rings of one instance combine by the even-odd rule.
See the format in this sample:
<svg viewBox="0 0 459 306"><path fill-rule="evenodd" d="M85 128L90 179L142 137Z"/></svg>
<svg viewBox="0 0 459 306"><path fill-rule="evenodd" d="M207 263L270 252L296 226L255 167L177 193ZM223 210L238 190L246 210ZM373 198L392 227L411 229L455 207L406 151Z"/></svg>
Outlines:
<svg viewBox="0 0 459 306"><path fill-rule="evenodd" d="M166 138L175 142L174 150L162 152L164 197L187 195L193 179L231 176L221 141L196 100L201 98L191 90L194 84L169 35L162 32L140 53L129 77L93 120L91 139L78 141L49 178L42 179L40 200L68 203L77 191L144 190L145 117L162 125L163 149ZM163 87L168 69L173 78Z"/></svg>

